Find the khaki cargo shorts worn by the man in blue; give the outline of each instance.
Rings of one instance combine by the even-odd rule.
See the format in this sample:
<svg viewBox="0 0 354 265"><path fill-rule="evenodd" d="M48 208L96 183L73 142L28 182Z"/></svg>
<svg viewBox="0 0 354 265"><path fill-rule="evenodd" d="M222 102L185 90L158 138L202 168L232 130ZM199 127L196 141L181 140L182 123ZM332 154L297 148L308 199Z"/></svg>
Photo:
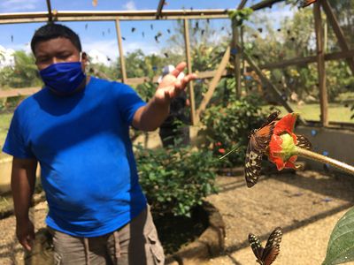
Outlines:
<svg viewBox="0 0 354 265"><path fill-rule="evenodd" d="M54 263L61 265L164 264L150 208L117 231L95 238L77 238L49 228L53 236Z"/></svg>

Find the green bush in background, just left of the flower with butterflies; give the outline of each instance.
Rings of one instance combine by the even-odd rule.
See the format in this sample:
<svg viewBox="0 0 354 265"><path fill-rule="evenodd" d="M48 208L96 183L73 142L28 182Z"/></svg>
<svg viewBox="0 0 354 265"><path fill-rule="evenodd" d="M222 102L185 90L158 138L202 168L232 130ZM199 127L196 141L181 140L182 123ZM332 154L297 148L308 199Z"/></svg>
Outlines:
<svg viewBox="0 0 354 265"><path fill-rule="evenodd" d="M256 96L248 96L229 102L227 107L216 105L205 110L202 117L205 129L201 133L206 136L206 147L212 148L213 154L217 156L236 145L240 147L221 161L223 167L244 162L248 136L266 118L261 111L261 102Z"/></svg>

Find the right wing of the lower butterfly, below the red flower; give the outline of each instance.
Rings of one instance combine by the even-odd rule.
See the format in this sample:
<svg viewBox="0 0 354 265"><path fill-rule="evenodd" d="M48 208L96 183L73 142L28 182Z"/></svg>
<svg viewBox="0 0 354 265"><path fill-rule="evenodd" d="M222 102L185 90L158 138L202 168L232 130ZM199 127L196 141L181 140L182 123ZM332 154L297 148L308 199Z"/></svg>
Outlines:
<svg viewBox="0 0 354 265"><path fill-rule="evenodd" d="M282 231L280 227L275 228L270 234L268 240L266 241L266 247L261 258L264 265L272 264L281 252L281 237Z"/></svg>

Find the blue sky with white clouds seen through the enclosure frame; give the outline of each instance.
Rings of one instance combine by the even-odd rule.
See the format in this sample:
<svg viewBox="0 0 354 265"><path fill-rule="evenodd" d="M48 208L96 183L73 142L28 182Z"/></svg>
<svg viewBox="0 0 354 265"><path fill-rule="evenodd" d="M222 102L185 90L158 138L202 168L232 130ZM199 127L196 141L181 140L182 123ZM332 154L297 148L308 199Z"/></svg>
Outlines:
<svg viewBox="0 0 354 265"><path fill-rule="evenodd" d="M122 11L122 10L156 10L158 0L97 0L93 6L92 0L51 0L51 8L58 11ZM240 0L165 0L167 3L164 10L176 9L233 9ZM249 0L247 5L259 1ZM246 6L247 6L246 5ZM47 11L46 0L1 0L0 13L9 12L31 12ZM267 9L273 19L277 20L285 16L291 16L289 6L276 4L272 10ZM212 19L211 25L215 29L225 27L230 30L228 19ZM62 23L62 22L61 22ZM90 22L65 22L62 23L71 27L81 37L83 50L95 49L107 57L116 58L119 56L116 37L115 23L113 21L90 21ZM23 24L0 24L0 45L5 49L25 49L30 51L29 42L35 29L41 27L42 23ZM150 25L153 29L151 30ZM126 39L123 41L124 53L132 52L135 49L142 49L145 54L158 53L161 48L168 47L167 29L172 31L176 27L173 20L153 21L121 21L121 34ZM132 32L135 27L135 32ZM142 37L142 32L144 37ZM155 42L154 36L158 32L163 35L160 42ZM218 34L218 31L217 31ZM226 34L226 33L220 33Z"/></svg>

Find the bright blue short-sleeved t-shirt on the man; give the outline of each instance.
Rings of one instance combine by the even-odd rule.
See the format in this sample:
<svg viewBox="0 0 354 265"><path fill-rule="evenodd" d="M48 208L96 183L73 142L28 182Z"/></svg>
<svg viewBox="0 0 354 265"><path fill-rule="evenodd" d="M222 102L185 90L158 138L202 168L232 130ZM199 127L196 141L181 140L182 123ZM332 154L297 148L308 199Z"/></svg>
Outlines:
<svg viewBox="0 0 354 265"><path fill-rule="evenodd" d="M91 78L70 96L44 87L15 110L3 151L41 164L51 228L101 236L146 208L129 139L145 104L127 85Z"/></svg>

